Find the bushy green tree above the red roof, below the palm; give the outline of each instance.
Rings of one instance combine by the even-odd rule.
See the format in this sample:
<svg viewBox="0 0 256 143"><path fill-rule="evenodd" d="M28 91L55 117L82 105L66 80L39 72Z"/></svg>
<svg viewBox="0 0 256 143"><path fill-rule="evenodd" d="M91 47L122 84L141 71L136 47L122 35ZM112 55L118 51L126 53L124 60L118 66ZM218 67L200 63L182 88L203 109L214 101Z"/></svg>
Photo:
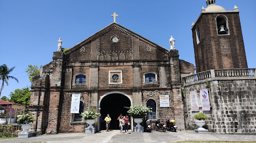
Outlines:
<svg viewBox="0 0 256 143"><path fill-rule="evenodd" d="M29 87L23 89L15 89L14 92L10 92L10 102L18 103L20 105L29 105L30 103L30 90Z"/></svg>

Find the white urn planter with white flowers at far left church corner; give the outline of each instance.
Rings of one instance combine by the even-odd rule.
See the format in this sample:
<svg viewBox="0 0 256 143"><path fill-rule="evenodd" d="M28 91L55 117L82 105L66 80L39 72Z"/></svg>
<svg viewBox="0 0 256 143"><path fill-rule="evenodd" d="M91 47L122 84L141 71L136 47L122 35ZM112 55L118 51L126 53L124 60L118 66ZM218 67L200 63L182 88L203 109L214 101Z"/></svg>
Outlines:
<svg viewBox="0 0 256 143"><path fill-rule="evenodd" d="M22 133L20 133L18 135L18 138L29 138L29 137L33 136L33 133L30 133L28 131L28 129L31 128L32 124L30 124L30 123L35 121L35 119L34 119L35 117L31 116L29 114L19 115L17 117L18 117L17 121L20 124L22 124L22 130L23 130Z"/></svg>

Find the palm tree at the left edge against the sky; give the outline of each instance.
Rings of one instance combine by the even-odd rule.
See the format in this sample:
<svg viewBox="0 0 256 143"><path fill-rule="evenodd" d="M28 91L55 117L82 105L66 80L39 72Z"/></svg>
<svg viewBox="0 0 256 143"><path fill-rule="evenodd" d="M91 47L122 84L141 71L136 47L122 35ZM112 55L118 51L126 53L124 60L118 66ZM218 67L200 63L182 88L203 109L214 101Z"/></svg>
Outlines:
<svg viewBox="0 0 256 143"><path fill-rule="evenodd" d="M0 66L0 80L3 80L2 86L1 86L1 89L0 89L0 97L1 97L1 92L2 92L3 86L4 86L4 82L5 82L5 83L7 84L7 86L8 86L8 80L9 80L9 78L10 78L10 79L14 79L14 80L16 80L16 81L19 83L19 81L18 81L17 78L8 75L8 74L10 74L10 73L13 71L14 68L15 68L15 67L12 67L12 68L9 69L9 68L7 68L7 65L6 65L6 64L3 64L3 65Z"/></svg>

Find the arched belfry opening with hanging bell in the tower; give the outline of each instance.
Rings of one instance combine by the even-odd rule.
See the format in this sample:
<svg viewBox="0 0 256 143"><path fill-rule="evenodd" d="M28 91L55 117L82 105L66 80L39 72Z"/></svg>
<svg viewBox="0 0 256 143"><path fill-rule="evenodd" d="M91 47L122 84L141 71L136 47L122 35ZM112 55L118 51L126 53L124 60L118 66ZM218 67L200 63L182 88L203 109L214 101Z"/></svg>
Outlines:
<svg viewBox="0 0 256 143"><path fill-rule="evenodd" d="M227 17L224 15L218 15L216 18L218 35L228 35L230 32L228 30Z"/></svg>

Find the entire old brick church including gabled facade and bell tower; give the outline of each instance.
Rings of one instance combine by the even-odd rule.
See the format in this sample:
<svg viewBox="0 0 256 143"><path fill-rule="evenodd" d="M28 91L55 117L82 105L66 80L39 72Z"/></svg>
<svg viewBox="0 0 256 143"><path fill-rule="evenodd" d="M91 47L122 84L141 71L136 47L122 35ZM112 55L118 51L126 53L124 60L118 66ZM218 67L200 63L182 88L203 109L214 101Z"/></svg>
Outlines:
<svg viewBox="0 0 256 143"><path fill-rule="evenodd" d="M36 117L31 131L36 134L84 132L87 124L80 114L88 108L94 108L102 115L96 119L97 131L105 128L103 120L106 114L113 119L110 129L119 129L116 118L120 113L127 114L125 107L144 105L152 108L152 113L148 115L152 122L158 118L162 121L175 119L179 130L192 130L196 127L193 115L204 112L210 131L227 133L223 125L215 127L216 119L222 119L216 117L216 113L226 113L228 109L215 108L215 97L220 99L222 90L214 88L224 86L230 79L236 86L239 85L235 82L241 80L253 85L255 69L247 69L238 8L227 11L216 5L215 0L207 0L206 4L207 8L202 8L191 27L197 74L194 74L193 64L179 59L175 36L170 38L170 50L167 50L116 23L116 13L112 15L113 23L65 52L61 50L60 38L52 62L44 65L40 76L36 76L31 83L29 113ZM217 69L222 69L219 77L215 73L219 72ZM221 75L226 75L225 69L241 69L239 71L244 75L223 78ZM252 71L252 76L248 71ZM191 111L189 91L202 87L209 89L210 111L205 112L201 108L198 112ZM242 99L242 102L254 98L255 87L248 90L250 94L241 95L246 96L243 97L246 101ZM80 97L79 109L75 113L71 109L74 95ZM168 101L161 98L163 95L168 97ZM236 101L231 99L227 102ZM256 101L249 102L254 104L248 109L255 112ZM249 121L251 124L256 122L254 117L255 114L246 118L252 119ZM133 127L133 119L130 119ZM223 120L228 122L226 118ZM233 119L230 122L234 124ZM255 133L255 125L250 127L252 129L247 133ZM230 130L228 133L234 132Z"/></svg>

